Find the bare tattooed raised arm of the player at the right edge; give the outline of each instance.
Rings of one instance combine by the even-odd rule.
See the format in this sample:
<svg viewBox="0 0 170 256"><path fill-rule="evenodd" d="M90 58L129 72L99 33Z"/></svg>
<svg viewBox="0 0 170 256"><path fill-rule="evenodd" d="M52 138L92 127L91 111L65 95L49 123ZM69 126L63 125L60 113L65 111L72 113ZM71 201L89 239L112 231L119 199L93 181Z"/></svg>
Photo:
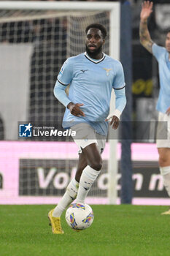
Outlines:
<svg viewBox="0 0 170 256"><path fill-rule="evenodd" d="M152 39L150 38L150 32L147 28L147 19L152 12L152 1L144 1L142 3L142 10L140 15L139 37L140 42L150 53L152 53Z"/></svg>

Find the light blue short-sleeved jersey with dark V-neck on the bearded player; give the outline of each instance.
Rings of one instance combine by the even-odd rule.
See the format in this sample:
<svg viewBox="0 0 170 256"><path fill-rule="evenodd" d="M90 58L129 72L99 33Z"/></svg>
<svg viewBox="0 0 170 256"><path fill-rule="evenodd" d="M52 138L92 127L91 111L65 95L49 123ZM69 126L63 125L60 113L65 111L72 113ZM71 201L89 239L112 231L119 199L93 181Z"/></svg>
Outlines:
<svg viewBox="0 0 170 256"><path fill-rule="evenodd" d="M87 121L96 132L107 135L108 123L104 120L109 114L112 89L125 87L120 61L106 54L103 54L102 59L94 60L87 53L81 53L64 62L58 82L63 86L70 84L69 99L74 103L82 103L80 108L85 113L85 116L73 116L66 108L63 128Z"/></svg>

